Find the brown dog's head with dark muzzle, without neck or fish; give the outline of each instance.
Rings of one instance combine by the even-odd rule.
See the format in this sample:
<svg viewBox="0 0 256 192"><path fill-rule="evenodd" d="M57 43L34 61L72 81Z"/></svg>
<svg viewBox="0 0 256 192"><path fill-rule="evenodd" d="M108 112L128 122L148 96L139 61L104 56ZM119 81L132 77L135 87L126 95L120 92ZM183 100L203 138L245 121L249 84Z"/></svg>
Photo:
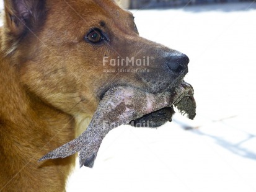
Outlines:
<svg viewBox="0 0 256 192"><path fill-rule="evenodd" d="M111 0L5 1L2 50L28 92L70 115L92 116L110 87L163 92L189 59L139 37L133 15Z"/></svg>

